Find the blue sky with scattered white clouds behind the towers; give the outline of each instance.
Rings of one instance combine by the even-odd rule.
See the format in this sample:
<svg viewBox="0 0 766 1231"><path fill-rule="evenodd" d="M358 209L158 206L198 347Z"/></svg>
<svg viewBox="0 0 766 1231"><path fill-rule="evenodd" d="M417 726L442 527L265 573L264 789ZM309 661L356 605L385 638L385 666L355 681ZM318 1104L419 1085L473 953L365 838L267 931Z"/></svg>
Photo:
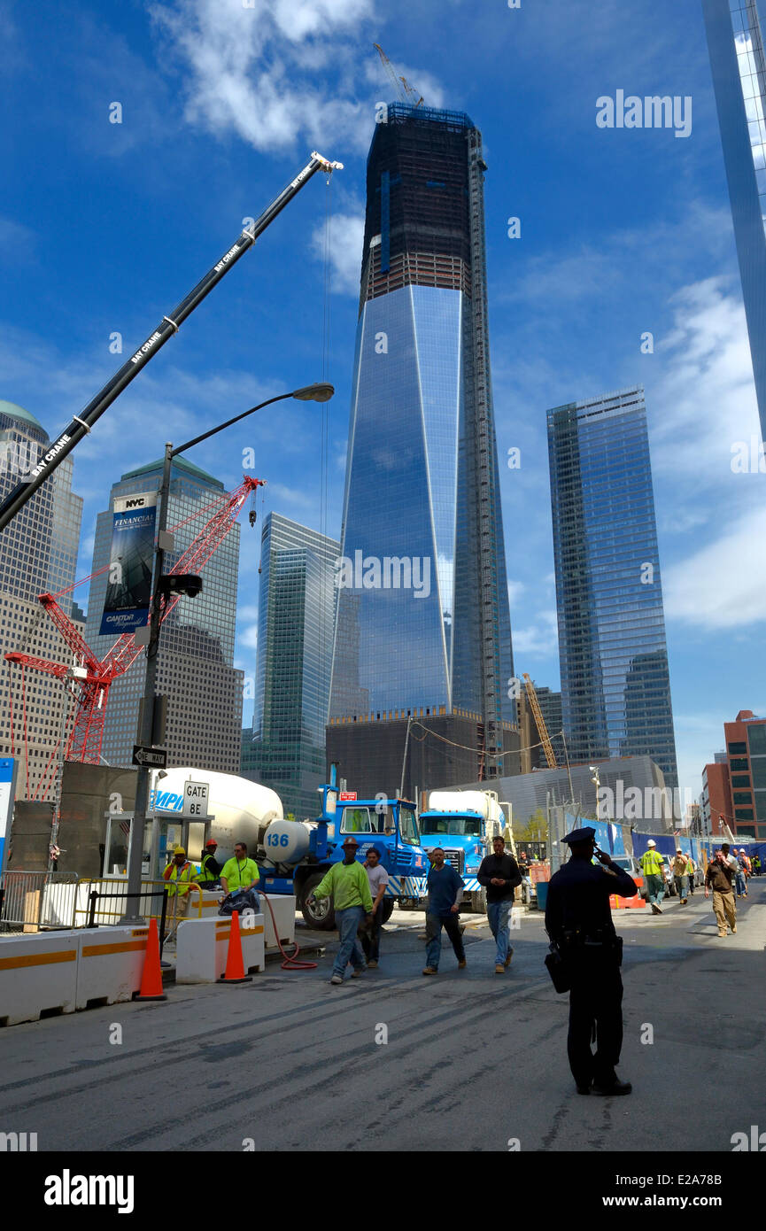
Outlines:
<svg viewBox="0 0 766 1231"><path fill-rule="evenodd" d="M559 687L546 411L640 383L680 785L697 796L724 720L766 714L766 474L699 0L0 0L0 398L62 431L316 149L344 170L303 188L73 454L79 575L124 470L323 378L326 483L310 403L190 459L233 487L252 451L266 512L339 535L365 165L393 96L373 42L483 133L516 673ZM618 90L691 98L691 130L600 127ZM751 441L755 465L733 465ZM246 697L259 554L245 519Z"/></svg>

